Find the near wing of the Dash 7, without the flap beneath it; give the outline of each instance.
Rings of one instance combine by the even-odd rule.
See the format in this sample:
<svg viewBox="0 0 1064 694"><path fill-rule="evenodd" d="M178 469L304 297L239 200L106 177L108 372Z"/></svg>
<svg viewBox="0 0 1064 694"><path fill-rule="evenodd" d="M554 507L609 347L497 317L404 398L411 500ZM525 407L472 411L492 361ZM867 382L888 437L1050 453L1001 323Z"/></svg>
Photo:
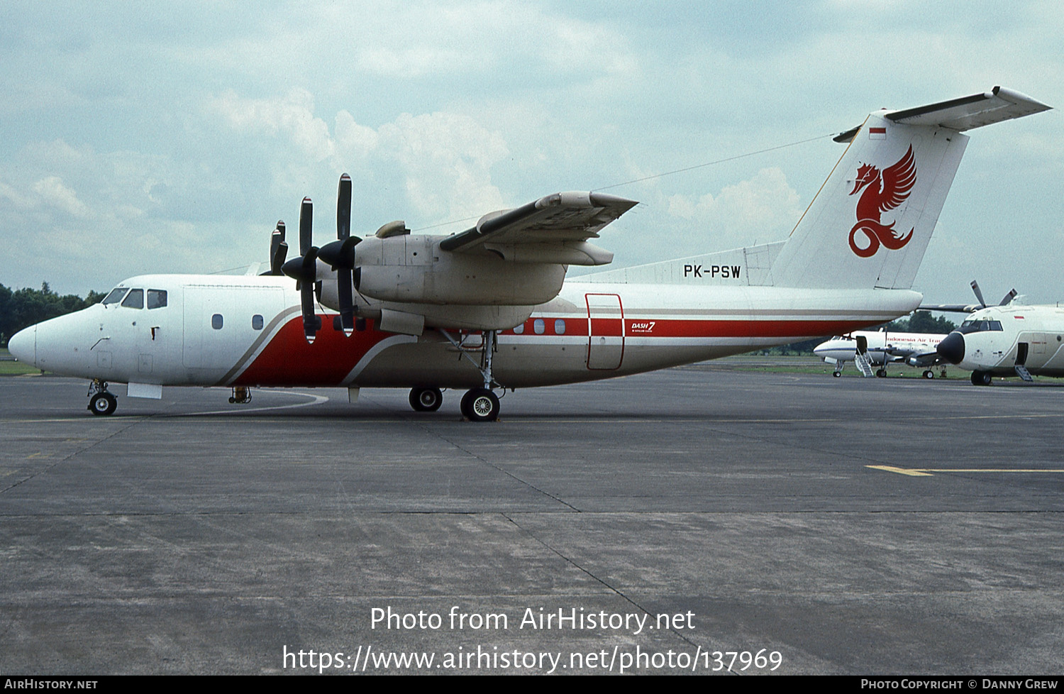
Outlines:
<svg viewBox="0 0 1064 694"><path fill-rule="evenodd" d="M440 242L446 251L485 243L509 245L585 241L638 202L605 193L555 193L513 210L484 215L472 229Z"/></svg>

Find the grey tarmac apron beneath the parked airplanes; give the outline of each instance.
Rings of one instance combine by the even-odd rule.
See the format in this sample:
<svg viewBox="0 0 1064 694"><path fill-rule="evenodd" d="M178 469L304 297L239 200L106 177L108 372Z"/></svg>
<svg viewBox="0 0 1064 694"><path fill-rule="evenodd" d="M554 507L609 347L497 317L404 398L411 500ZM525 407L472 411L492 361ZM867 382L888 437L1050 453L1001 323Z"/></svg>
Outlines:
<svg viewBox="0 0 1064 694"><path fill-rule="evenodd" d="M85 392L0 379L4 674L1064 672L1064 383Z"/></svg>

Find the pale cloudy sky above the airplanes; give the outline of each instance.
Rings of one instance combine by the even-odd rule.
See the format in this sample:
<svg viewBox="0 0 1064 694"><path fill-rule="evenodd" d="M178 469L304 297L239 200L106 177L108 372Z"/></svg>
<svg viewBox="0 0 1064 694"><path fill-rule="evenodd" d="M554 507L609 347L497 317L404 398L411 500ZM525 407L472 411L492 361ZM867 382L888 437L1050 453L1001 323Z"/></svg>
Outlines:
<svg viewBox="0 0 1064 694"><path fill-rule="evenodd" d="M1064 300L1062 46L1057 0L7 0L0 283L246 267L304 195L320 245L344 171L354 233L654 177L609 188L614 266L778 241L827 135L1001 84L1059 110L969 133L915 288Z"/></svg>

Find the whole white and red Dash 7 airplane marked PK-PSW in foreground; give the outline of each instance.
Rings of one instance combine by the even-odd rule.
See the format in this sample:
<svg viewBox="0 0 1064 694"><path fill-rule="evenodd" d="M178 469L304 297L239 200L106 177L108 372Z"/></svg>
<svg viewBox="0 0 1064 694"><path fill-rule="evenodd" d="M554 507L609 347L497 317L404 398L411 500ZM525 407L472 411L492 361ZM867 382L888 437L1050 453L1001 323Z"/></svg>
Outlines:
<svg viewBox="0 0 1064 694"><path fill-rule="evenodd" d="M730 251L565 280L569 265L613 254L588 238L636 204L561 193L484 215L467 231L410 234L392 222L350 235L351 182L340 179L337 239L312 244L259 277L144 275L99 304L27 328L23 362L107 381L132 397L165 385L404 387L418 411L464 389L471 420L499 414L495 391L649 371L842 334L916 309L913 278L967 144L962 131L1045 111L1009 89L878 111L835 139L842 159L789 237ZM288 278L282 276L287 275ZM563 284L564 281L564 284Z"/></svg>

